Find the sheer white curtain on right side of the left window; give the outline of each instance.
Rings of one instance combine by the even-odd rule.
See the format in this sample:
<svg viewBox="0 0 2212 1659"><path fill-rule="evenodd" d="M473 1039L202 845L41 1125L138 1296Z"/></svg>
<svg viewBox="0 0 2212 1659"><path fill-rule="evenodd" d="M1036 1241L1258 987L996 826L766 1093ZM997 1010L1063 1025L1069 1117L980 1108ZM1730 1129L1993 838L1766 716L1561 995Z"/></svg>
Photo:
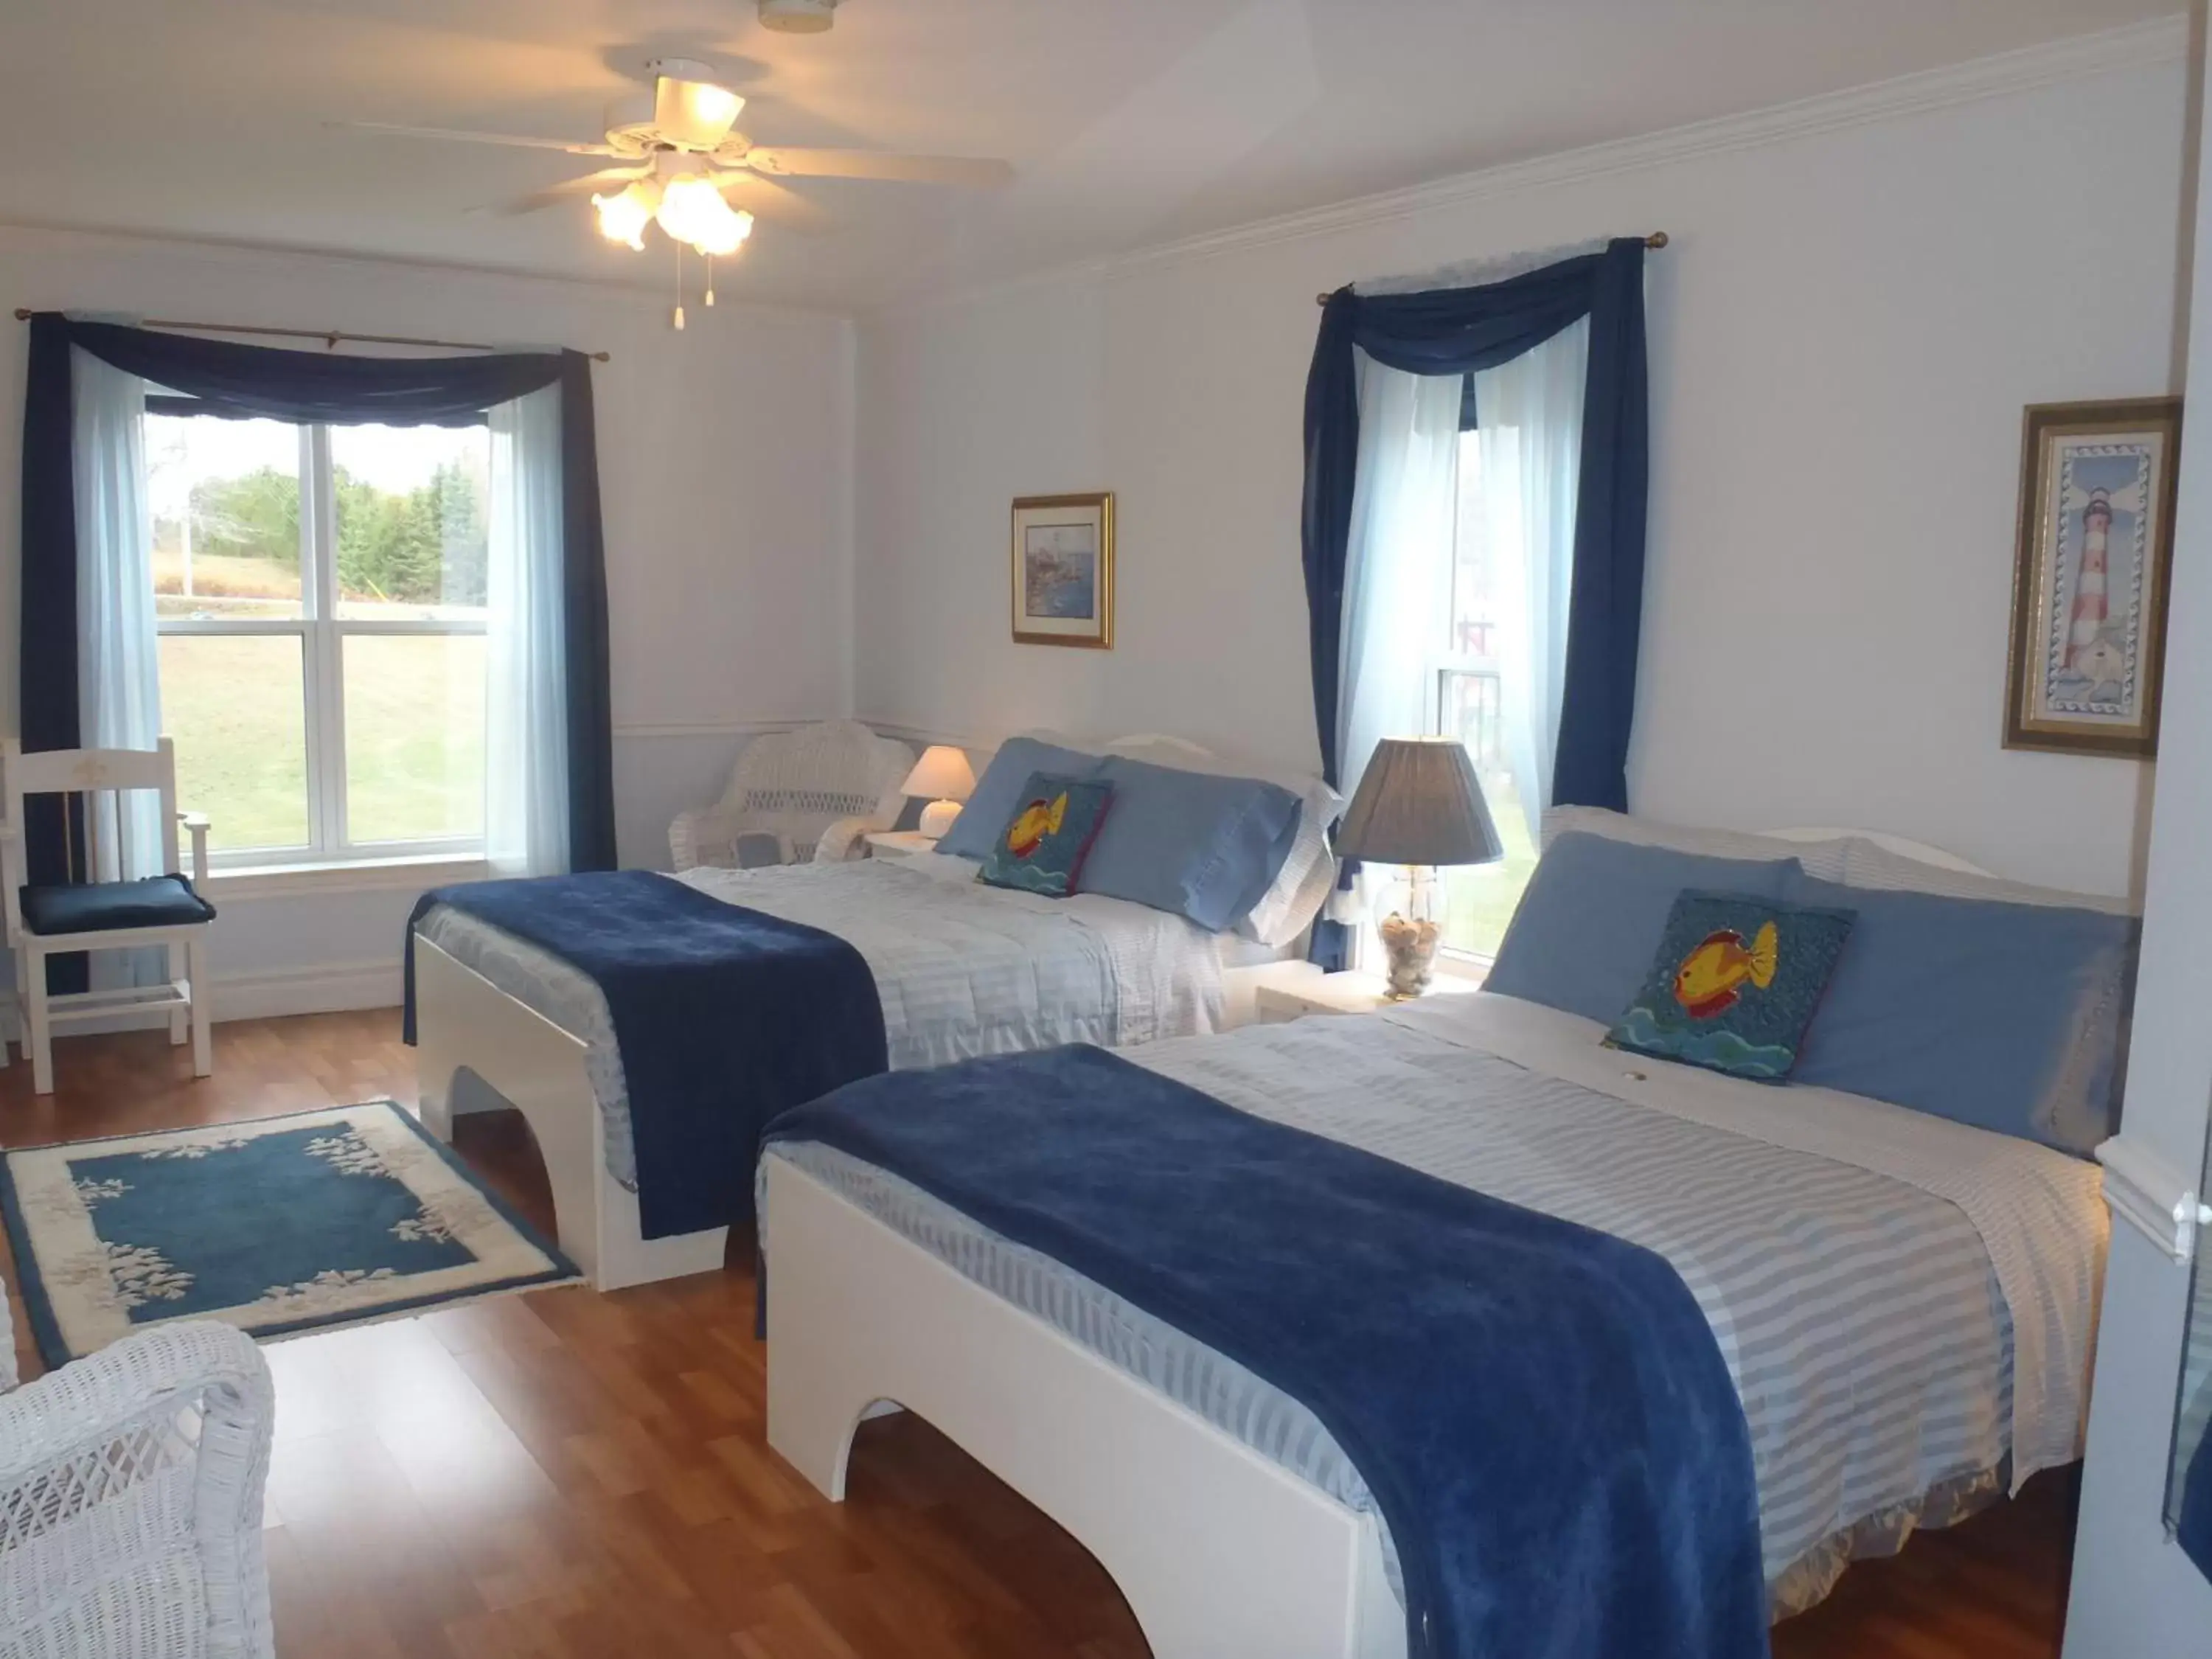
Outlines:
<svg viewBox="0 0 2212 1659"><path fill-rule="evenodd" d="M484 858L568 869L560 385L491 409L484 650Z"/></svg>

